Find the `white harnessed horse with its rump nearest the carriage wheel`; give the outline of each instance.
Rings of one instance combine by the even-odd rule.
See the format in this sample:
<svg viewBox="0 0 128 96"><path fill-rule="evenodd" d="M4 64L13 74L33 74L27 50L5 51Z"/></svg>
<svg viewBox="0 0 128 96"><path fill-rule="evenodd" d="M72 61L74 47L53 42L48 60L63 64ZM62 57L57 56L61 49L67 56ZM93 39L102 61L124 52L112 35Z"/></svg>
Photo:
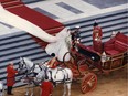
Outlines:
<svg viewBox="0 0 128 96"><path fill-rule="evenodd" d="M64 93L63 96L66 96L66 88L67 88L67 96L71 96L71 84L73 81L73 73L70 68L62 68L56 67L54 70L49 68L46 65L42 65L42 71L36 75L35 81L41 82L43 79L49 78L49 81L60 84L64 84Z"/></svg>

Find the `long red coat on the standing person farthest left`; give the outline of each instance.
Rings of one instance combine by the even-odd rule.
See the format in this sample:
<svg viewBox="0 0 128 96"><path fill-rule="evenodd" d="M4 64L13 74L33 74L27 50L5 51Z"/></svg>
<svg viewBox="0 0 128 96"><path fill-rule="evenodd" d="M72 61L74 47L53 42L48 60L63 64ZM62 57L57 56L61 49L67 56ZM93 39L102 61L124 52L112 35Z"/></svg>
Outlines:
<svg viewBox="0 0 128 96"><path fill-rule="evenodd" d="M7 67L7 86L13 86L13 84L15 83L15 73L18 73L18 71L15 71L13 67L8 65L8 67Z"/></svg>

